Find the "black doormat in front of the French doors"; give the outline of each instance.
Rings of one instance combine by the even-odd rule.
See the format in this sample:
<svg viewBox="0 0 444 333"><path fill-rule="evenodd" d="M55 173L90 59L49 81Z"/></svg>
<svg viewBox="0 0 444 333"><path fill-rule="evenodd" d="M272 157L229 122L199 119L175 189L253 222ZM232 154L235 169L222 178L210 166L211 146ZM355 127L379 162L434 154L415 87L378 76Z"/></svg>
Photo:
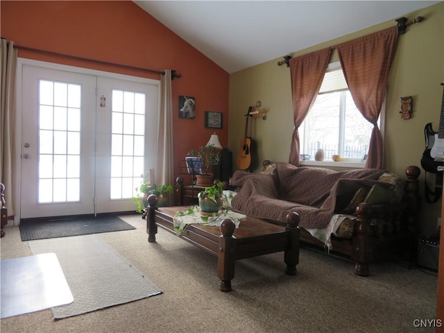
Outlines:
<svg viewBox="0 0 444 333"><path fill-rule="evenodd" d="M55 220L22 220L19 225L22 241L36 239L79 236L80 234L99 234L134 230L135 227L122 221L117 216L78 217Z"/></svg>

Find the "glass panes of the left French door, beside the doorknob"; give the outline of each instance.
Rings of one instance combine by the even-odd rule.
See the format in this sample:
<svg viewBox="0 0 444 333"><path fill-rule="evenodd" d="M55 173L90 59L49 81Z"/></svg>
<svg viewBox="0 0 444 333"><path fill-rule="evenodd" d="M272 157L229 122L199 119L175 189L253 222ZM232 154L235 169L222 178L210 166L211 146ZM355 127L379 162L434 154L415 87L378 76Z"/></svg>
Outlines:
<svg viewBox="0 0 444 333"><path fill-rule="evenodd" d="M39 80L38 203L80 200L81 86Z"/></svg>

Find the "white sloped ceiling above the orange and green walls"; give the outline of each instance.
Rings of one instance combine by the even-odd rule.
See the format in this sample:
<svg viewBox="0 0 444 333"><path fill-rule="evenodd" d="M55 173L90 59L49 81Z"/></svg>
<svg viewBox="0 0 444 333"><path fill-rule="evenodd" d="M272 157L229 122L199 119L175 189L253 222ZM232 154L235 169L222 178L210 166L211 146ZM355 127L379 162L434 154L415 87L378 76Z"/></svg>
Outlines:
<svg viewBox="0 0 444 333"><path fill-rule="evenodd" d="M231 74L441 1L134 2Z"/></svg>

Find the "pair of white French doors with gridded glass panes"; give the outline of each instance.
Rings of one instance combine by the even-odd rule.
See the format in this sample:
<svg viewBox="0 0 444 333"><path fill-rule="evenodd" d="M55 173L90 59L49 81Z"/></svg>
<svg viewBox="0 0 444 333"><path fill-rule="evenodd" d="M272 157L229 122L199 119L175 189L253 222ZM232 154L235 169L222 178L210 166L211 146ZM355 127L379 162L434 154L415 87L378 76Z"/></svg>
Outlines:
<svg viewBox="0 0 444 333"><path fill-rule="evenodd" d="M158 95L157 81L23 65L21 218L135 210Z"/></svg>

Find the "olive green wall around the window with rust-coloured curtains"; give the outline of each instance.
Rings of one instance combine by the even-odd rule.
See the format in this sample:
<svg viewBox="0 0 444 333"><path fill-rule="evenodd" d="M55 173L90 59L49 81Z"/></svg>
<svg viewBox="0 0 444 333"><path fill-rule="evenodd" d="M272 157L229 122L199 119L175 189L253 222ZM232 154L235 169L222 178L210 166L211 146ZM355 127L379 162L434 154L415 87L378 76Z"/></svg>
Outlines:
<svg viewBox="0 0 444 333"><path fill-rule="evenodd" d="M443 97L440 83L444 80L444 2L405 15L408 19L418 16L424 17L424 21L408 26L407 32L400 35L386 97L384 169L402 176L407 166L414 164L420 167L420 157L425 149L424 127L426 123L433 122L434 130L438 130ZM300 56L374 33L395 25L395 19L398 17L303 51L290 53L290 56ZM291 32L285 37L291 38ZM267 117L266 120L250 119L248 135L257 142L259 167L263 160L289 160L293 131L290 72L285 65L277 65L281 60L282 58L271 60L230 75L228 146L232 149L234 170L237 169L237 155L244 137L244 114L248 106L255 105L257 100L262 101ZM334 52L332 61L337 60ZM402 120L399 113L402 96L413 97L413 117L409 120ZM424 175L425 171L421 168L422 197ZM430 175L432 184L433 177L434 175ZM441 200L434 204L423 200L420 220L424 234L436 231L438 216L441 216Z"/></svg>

